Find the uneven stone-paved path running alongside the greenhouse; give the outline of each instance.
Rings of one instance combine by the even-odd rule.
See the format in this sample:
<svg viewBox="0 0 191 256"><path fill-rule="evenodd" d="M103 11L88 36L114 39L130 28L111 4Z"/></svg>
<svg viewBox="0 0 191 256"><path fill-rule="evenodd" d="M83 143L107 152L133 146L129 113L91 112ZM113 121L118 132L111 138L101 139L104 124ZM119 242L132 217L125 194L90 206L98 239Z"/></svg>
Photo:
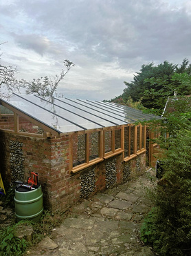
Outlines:
<svg viewBox="0 0 191 256"><path fill-rule="evenodd" d="M71 208L71 215L27 255L155 255L139 241L144 215L151 208L145 188L150 169L134 181L99 193Z"/></svg>

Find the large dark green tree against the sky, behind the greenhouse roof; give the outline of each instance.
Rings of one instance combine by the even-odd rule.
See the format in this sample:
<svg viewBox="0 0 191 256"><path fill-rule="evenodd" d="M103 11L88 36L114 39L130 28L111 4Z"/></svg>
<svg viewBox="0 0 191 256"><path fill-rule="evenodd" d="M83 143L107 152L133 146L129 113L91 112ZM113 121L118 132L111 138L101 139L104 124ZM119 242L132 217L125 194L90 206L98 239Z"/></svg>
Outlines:
<svg viewBox="0 0 191 256"><path fill-rule="evenodd" d="M142 106L157 109L157 114L161 115L167 98L174 92L177 95L191 94L191 65L188 63L188 59L184 59L180 67L168 61L158 66L153 63L143 65L131 83L124 82L127 86L122 94L124 102L129 97L133 102L142 99Z"/></svg>

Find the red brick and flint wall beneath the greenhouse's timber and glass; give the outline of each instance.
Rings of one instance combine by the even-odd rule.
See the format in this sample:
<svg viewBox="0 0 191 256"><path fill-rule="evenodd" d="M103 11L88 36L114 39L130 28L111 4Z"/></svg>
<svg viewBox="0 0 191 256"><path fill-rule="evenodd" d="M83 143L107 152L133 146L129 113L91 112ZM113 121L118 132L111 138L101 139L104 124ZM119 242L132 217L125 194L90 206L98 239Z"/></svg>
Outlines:
<svg viewBox="0 0 191 256"><path fill-rule="evenodd" d="M9 184L38 173L44 206L53 212L140 175L146 167L145 152L126 162L120 153L71 175L69 135L40 139L0 131L0 156L1 175Z"/></svg>

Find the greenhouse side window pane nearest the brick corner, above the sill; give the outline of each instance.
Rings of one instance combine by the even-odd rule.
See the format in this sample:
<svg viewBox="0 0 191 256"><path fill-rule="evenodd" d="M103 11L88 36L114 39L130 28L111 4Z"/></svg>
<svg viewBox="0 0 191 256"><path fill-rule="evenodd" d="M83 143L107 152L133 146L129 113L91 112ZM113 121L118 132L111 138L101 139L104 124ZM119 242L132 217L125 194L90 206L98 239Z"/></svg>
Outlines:
<svg viewBox="0 0 191 256"><path fill-rule="evenodd" d="M73 167L85 163L86 155L86 139L85 134L72 135L72 153L73 153Z"/></svg>

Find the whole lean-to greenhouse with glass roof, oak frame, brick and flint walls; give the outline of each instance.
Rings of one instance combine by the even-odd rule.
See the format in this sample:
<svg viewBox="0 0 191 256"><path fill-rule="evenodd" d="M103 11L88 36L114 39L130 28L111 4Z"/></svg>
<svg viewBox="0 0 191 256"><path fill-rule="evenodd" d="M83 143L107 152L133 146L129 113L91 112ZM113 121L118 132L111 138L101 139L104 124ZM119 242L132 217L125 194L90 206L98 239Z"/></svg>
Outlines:
<svg viewBox="0 0 191 256"><path fill-rule="evenodd" d="M121 184L153 164L150 130L160 119L102 101L10 95L1 99L1 175L13 183L37 172L47 208Z"/></svg>

